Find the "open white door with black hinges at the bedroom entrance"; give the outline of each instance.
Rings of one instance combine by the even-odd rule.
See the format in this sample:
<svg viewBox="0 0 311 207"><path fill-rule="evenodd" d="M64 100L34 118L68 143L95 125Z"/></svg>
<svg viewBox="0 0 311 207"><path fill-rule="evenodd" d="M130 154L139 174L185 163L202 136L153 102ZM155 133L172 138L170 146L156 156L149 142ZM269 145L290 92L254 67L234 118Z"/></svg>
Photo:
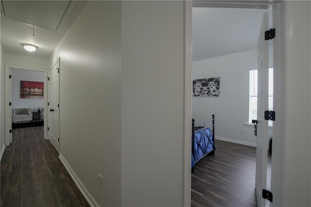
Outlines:
<svg viewBox="0 0 311 207"><path fill-rule="evenodd" d="M269 44L264 40L268 30L268 13L263 14L258 38L258 100L257 100L257 159L256 159L256 197L257 206L265 207L262 189L267 182L268 121L264 111L268 110Z"/></svg>

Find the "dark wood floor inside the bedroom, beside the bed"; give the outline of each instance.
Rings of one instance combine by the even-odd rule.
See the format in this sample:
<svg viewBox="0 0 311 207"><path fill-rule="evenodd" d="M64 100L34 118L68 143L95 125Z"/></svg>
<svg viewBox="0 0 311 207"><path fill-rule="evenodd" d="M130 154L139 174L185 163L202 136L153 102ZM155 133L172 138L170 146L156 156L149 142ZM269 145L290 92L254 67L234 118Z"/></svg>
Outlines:
<svg viewBox="0 0 311 207"><path fill-rule="evenodd" d="M198 161L191 175L191 207L257 207L256 148L221 140L215 145L215 155Z"/></svg>

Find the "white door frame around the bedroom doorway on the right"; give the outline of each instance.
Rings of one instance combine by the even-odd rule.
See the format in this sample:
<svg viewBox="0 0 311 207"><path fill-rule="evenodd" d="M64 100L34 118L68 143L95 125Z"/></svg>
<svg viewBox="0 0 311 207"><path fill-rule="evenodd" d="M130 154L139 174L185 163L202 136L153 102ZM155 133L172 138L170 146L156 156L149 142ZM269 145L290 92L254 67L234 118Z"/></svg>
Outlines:
<svg viewBox="0 0 311 207"><path fill-rule="evenodd" d="M293 38L292 33L292 15L287 15L288 11L291 11L293 7L291 2L288 1L273 1L269 2L266 1L235 1L235 0L228 0L228 1L194 1L192 5L192 0L187 0L184 2L184 44L185 44L185 53L184 53L184 76L185 76L185 88L184 88L184 140L183 140L183 147L184 147L184 154L183 154L183 200L182 205L184 207L190 206L191 203L191 118L192 118L192 7L227 7L227 8L265 8L268 9L269 5L273 5L274 7L274 27L276 27L276 33L279 35L277 41L274 40L274 56L278 54L278 60L274 60L274 67L283 67L284 66L284 73L285 75L281 75L279 78L280 82L284 84L285 88L283 88L283 93L280 87L278 87L279 96L276 100L276 107L279 109L285 109L285 97L288 97L287 94L290 91L293 91L293 85L288 83L289 79L286 74L293 74L294 67L291 66L293 61L293 51L287 49L288 46L291 45L291 40ZM276 9L277 8L277 9ZM284 19L286 17L286 20ZM287 47L286 45L287 44ZM275 46L277 49L275 49ZM277 52L277 53L276 53ZM285 59L286 56L286 59ZM275 58L276 59L276 58ZM286 62L285 62L286 61ZM285 78L287 77L287 78ZM283 80L284 79L284 80ZM289 96L291 97L291 96ZM288 102L288 98L286 102ZM280 110L281 111L281 110ZM286 105L285 114L282 115L284 117L287 113L293 113L294 107L293 105ZM285 116L286 117L286 116ZM281 117L280 117L281 118ZM287 120L287 119L286 119ZM285 136L286 134L291 135L292 128L285 128L285 119L277 119L274 124L274 145L273 151L277 152L278 155L272 157L272 163L278 163L278 169L275 170L275 173L272 172L272 183L271 189L278 191L278 196L274 196L274 201L271 203L271 206L277 206L279 204L283 204L283 201L286 197L290 197L288 195L287 190L283 190L283 185L286 186L287 181L284 179L284 166L287 160L284 159L284 143L286 142L287 138L291 138L290 136ZM277 136L277 137L276 137ZM276 143L276 140L278 143ZM286 150L292 150L291 148L293 142L287 141L286 143ZM275 149L277 146L280 149ZM274 171L272 167L272 171ZM254 186L255 188L255 186Z"/></svg>

